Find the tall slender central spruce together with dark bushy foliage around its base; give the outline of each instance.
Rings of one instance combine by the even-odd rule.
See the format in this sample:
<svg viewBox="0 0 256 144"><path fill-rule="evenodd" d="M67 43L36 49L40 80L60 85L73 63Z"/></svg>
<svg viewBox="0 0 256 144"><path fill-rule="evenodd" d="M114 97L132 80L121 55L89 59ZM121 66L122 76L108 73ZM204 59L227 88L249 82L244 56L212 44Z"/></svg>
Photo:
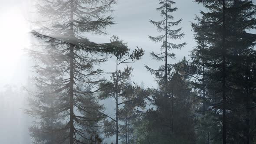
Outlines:
<svg viewBox="0 0 256 144"><path fill-rule="evenodd" d="M189 100L191 89L188 79L185 78L187 76L181 74L180 72L183 71L178 68L182 67L181 65L184 63L181 64L181 62L174 65L167 62L168 57L175 58L175 54L171 53L171 49L181 49L186 45L186 43L174 44L171 42L171 40L181 39L184 36L184 33L181 33L181 28L171 29L181 23L181 19L174 22L170 21L174 17L169 13L177 11L177 7L172 7L175 4L174 1L160 0L159 4L161 7L157 8L157 10L161 11L163 20L158 22L150 20L150 22L163 34L157 37L149 36L149 38L154 42L163 42L161 52L158 54L152 52L151 56L153 59L164 61L165 64L161 65L158 70L146 66L148 71L155 76L159 89L150 90L149 101L156 108L155 110L151 108L146 112L145 118L147 120L145 121L148 121L149 127L151 126L149 128L152 134L150 137L154 137L154 143L177 143L178 141L182 141L181 143L184 144L193 143L192 101ZM184 59L183 62L185 61ZM187 124L190 125L188 126ZM188 126L186 131L182 131L183 126Z"/></svg>

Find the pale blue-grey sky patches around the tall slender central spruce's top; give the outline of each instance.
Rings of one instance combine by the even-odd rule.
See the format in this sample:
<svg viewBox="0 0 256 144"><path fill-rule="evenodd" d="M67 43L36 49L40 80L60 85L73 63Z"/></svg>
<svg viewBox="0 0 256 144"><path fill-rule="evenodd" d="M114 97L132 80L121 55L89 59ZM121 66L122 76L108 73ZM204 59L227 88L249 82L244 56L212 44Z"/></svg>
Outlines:
<svg viewBox="0 0 256 144"><path fill-rule="evenodd" d="M175 63L181 60L184 56L188 56L189 51L195 46L193 39L193 33L191 32L190 22L194 21L195 14L198 14L202 9L200 5L194 3L192 0L176 0L178 7L177 12L173 13L174 20L183 19L181 24L176 27L182 27L182 32L186 35L181 40L173 40L172 43L183 43L187 42L181 50L175 50L174 53L177 55L176 59L169 59L169 63ZM144 82L145 86L156 86L153 75L151 75L144 68L144 65L148 65L153 69L158 69L160 64L164 62L158 62L151 59L149 53L159 52L160 45L162 43L152 42L148 36L158 36L160 35L156 28L149 23L149 20L158 21L162 18L160 17L160 12L156 11L159 7L158 0L119 0L118 4L114 7L115 12L112 14L115 16L116 25L107 29L110 35L118 35L121 39L128 43L129 48L134 49L136 46L141 47L145 50L145 55L143 59L128 64L134 68L133 80L138 84L141 81ZM174 28L175 29L175 28ZM108 42L110 36L88 36L89 39L95 42ZM187 58L189 59L189 58ZM110 60L107 65L104 66L105 69L110 71L115 71L114 65L115 59Z"/></svg>

